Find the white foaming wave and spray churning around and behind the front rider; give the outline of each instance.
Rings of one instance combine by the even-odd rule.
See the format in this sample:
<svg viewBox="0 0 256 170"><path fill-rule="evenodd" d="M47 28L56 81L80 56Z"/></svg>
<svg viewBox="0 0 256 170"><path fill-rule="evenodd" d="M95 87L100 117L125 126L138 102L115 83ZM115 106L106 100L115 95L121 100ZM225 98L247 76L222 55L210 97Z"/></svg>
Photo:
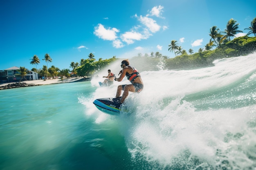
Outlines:
<svg viewBox="0 0 256 170"><path fill-rule="evenodd" d="M89 105L96 98L114 97L117 85L127 80L97 88L85 105L98 124L116 119L134 161L146 160L152 169L175 169L177 164L184 169L256 167L256 54L214 64L142 71L144 90L126 99L129 116L113 118ZM92 86L99 86L101 77L92 79Z"/></svg>

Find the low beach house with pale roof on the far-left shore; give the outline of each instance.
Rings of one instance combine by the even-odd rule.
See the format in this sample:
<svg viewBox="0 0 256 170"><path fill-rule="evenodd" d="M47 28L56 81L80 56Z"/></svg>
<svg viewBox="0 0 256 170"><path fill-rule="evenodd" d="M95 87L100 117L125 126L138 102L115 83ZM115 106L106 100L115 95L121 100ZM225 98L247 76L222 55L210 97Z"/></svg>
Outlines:
<svg viewBox="0 0 256 170"><path fill-rule="evenodd" d="M19 82L22 78L18 75L20 67L13 66L5 70L0 70L0 83ZM27 69L27 74L24 80L38 80L38 73Z"/></svg>

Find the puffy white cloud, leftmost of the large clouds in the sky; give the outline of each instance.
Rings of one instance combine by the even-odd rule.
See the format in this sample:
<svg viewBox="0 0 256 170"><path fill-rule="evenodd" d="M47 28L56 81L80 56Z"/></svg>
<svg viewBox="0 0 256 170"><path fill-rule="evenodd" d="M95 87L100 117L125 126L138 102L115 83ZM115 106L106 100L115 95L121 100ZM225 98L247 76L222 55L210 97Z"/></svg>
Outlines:
<svg viewBox="0 0 256 170"><path fill-rule="evenodd" d="M94 35L97 35L99 38L103 40L115 40L117 38L116 33L118 33L119 30L116 28L108 28L105 29L102 24L98 24L98 26L94 27Z"/></svg>

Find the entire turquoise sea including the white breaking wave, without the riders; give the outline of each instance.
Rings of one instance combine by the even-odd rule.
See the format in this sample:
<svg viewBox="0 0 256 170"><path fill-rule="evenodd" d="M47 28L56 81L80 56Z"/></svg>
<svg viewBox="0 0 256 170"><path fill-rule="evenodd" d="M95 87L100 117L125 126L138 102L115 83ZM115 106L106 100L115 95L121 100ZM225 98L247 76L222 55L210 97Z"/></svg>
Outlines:
<svg viewBox="0 0 256 170"><path fill-rule="evenodd" d="M92 104L128 84L100 87L108 69L88 82L0 91L0 170L256 170L255 53L141 71L144 90L119 116Z"/></svg>

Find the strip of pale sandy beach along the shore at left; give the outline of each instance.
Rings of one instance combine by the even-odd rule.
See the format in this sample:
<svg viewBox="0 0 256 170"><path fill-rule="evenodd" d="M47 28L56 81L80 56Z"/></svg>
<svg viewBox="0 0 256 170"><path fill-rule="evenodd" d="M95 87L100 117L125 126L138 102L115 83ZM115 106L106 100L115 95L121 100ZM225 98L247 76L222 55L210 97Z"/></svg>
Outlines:
<svg viewBox="0 0 256 170"><path fill-rule="evenodd" d="M70 82L82 82L82 81L88 81L90 78L84 78L84 77L74 77L74 78L68 78L68 79L39 79L39 80L27 80L27 81L22 81L21 83L26 83L26 84L40 84L40 85L45 85L45 84L57 84L57 83L70 83ZM13 84L16 82L10 82L10 83L4 83L0 84L0 86L6 86L8 84Z"/></svg>

